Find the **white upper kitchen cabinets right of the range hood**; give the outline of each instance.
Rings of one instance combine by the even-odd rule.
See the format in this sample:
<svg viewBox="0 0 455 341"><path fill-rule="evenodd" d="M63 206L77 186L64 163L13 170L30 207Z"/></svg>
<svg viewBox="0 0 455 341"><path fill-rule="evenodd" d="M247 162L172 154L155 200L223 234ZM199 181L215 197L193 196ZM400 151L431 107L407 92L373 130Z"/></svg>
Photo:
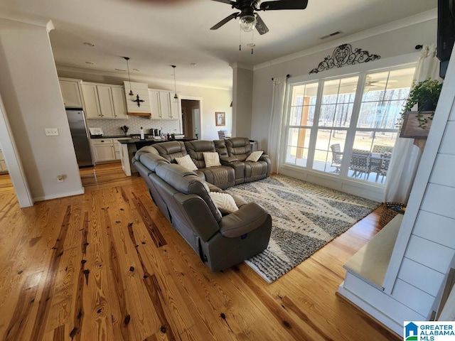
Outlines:
<svg viewBox="0 0 455 341"><path fill-rule="evenodd" d="M179 119L179 101L173 97L173 92L149 89L150 119Z"/></svg>

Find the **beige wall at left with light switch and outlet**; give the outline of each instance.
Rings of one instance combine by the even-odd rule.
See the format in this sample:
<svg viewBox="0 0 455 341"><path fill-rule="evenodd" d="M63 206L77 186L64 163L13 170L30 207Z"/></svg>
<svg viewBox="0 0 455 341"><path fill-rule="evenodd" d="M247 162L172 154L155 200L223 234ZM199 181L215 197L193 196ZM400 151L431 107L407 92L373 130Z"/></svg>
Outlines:
<svg viewBox="0 0 455 341"><path fill-rule="evenodd" d="M45 24L0 18L0 94L33 199L83 193Z"/></svg>

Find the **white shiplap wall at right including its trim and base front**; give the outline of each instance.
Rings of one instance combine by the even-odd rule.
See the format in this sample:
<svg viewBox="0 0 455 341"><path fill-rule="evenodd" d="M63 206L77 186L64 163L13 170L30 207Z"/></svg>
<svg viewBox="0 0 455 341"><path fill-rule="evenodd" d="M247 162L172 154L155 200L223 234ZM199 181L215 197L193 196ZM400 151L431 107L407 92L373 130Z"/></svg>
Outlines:
<svg viewBox="0 0 455 341"><path fill-rule="evenodd" d="M397 334L429 320L455 254L455 58L452 58L381 288L346 274L338 292ZM420 316L420 318L419 318Z"/></svg>

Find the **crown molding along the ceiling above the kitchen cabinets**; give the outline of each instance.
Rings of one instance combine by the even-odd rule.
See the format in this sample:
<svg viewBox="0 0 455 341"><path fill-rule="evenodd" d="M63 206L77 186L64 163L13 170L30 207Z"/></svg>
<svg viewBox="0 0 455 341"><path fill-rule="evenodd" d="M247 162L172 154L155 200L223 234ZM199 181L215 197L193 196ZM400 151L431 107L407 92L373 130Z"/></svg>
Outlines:
<svg viewBox="0 0 455 341"><path fill-rule="evenodd" d="M128 80L128 76L124 74L124 72L112 72L112 71L102 71L102 70L94 70L94 69L85 69L83 67L73 67L73 66L68 66L68 65L58 65L55 64L55 67L57 68L57 71L65 71L65 72L76 72L80 75L98 75L98 76L107 76L107 77L114 77L118 78L121 82L124 80ZM82 77L79 77L82 78ZM148 76L142 76L142 75L132 75L132 82L138 81L138 82L160 82L164 84L169 84L172 85L173 88L173 80L162 80L159 78L154 78L154 77L148 77ZM214 90L232 90L227 87L212 87L209 85L204 85L204 84L198 84L198 83L192 83L192 82L176 82L177 85L184 85L187 87L202 87L205 89L214 89Z"/></svg>

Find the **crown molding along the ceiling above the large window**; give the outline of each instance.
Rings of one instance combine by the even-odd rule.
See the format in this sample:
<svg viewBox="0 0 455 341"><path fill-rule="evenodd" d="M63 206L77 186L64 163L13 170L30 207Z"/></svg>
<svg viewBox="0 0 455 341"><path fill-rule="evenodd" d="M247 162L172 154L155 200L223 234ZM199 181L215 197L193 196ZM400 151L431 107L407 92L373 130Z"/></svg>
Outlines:
<svg viewBox="0 0 455 341"><path fill-rule="evenodd" d="M277 65L280 63L289 62L291 60L295 60L298 58L306 57L307 55L313 55L314 53L319 53L324 50L330 50L331 48L336 48L337 46L343 43L352 43L357 40L362 40L366 38L371 38L373 36L378 36L382 33L387 33L390 31L395 31L400 28L405 28L407 26L415 25L417 23L424 23L425 21L430 21L436 19L438 16L437 9L432 9L429 11L425 11L414 16L408 16L407 18L402 18L397 21L392 21L391 23L385 23L384 25L376 26L370 28L368 30L351 34L350 36L338 38L336 40L332 40L328 43L323 43L321 45L314 46L314 48L308 48L306 50L302 50L296 53L291 53L290 55L284 55L283 57L269 60L268 62L264 62L261 64L257 64L253 67L253 70L260 70L265 67L270 67L272 65Z"/></svg>

